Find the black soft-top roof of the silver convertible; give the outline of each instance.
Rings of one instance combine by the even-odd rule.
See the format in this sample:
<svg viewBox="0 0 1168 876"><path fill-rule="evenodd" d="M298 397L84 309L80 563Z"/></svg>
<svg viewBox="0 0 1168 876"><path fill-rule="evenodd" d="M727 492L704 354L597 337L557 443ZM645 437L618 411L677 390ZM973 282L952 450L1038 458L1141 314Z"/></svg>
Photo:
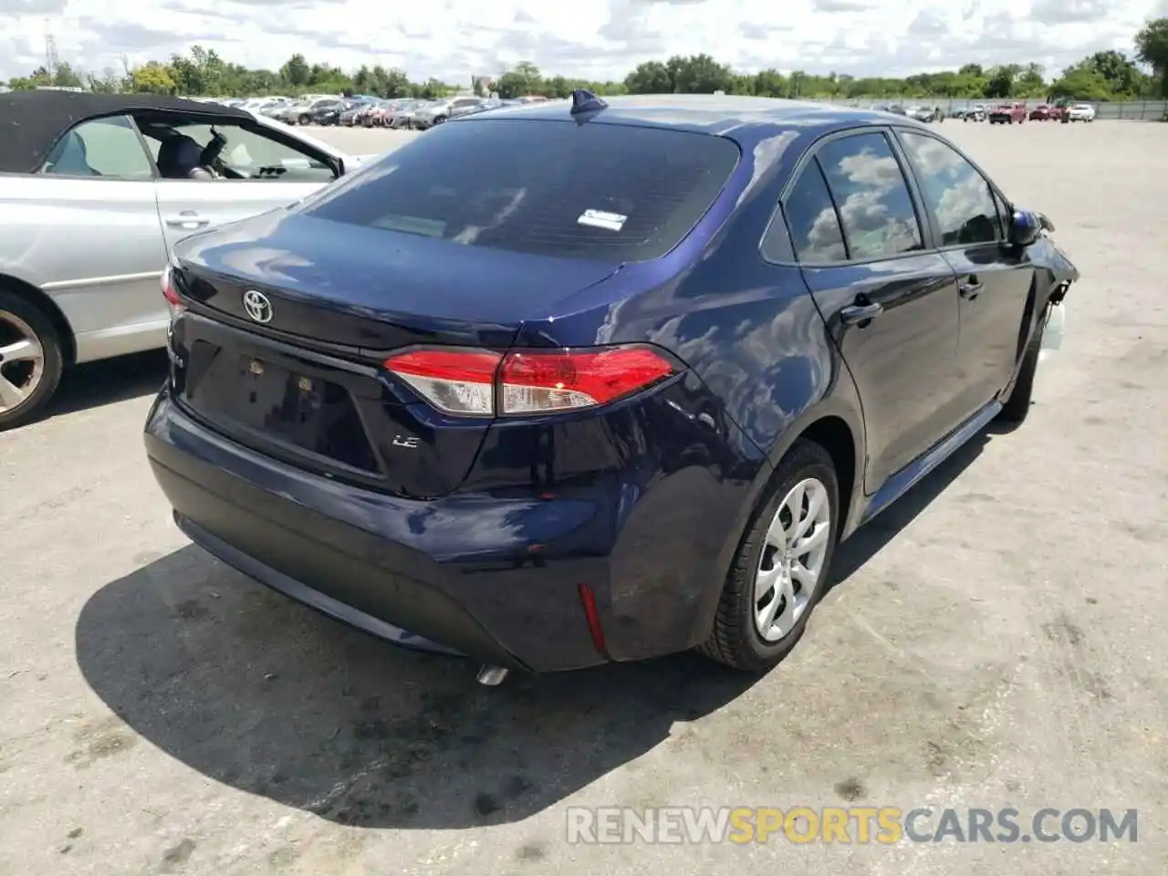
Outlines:
<svg viewBox="0 0 1168 876"><path fill-rule="evenodd" d="M13 91L0 95L0 173L34 173L58 139L90 119L151 110L253 119L246 110L164 95Z"/></svg>

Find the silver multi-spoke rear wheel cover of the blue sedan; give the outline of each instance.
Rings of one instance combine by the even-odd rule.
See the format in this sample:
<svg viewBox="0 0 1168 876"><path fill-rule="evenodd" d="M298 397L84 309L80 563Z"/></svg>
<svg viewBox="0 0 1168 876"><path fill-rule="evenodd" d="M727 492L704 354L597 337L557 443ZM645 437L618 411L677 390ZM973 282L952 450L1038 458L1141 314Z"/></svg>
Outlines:
<svg viewBox="0 0 1168 876"><path fill-rule="evenodd" d="M773 644L790 635L807 611L830 537L827 487L806 478L779 503L755 575L755 628L764 641Z"/></svg>

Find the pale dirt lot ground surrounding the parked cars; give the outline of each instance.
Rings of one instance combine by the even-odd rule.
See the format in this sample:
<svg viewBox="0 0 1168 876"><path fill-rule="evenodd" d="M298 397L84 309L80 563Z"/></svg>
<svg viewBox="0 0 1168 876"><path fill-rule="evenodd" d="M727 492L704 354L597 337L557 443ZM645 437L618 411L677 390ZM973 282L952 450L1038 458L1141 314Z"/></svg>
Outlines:
<svg viewBox="0 0 1168 876"><path fill-rule="evenodd" d="M0 436L0 874L1162 876L1168 125L941 130L1055 221L1070 336L1029 422L847 544L755 683L681 656L488 689L364 638L174 528L140 439L162 355L69 375ZM565 807L610 805L1138 808L1139 833L566 843Z"/></svg>

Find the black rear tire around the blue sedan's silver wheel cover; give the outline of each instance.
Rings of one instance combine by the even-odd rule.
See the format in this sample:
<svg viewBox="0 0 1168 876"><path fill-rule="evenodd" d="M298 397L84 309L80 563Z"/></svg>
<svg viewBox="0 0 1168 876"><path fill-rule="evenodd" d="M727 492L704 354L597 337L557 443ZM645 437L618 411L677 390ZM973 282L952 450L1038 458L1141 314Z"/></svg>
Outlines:
<svg viewBox="0 0 1168 876"><path fill-rule="evenodd" d="M764 641L755 621L755 578L765 548L765 536L779 505L805 478L814 477L827 487L830 530L815 592L791 632L777 642ZM735 669L764 673L777 666L799 644L832 572L839 540L840 487L830 454L818 444L798 440L776 468L770 493L751 520L726 576L710 637L697 649Z"/></svg>

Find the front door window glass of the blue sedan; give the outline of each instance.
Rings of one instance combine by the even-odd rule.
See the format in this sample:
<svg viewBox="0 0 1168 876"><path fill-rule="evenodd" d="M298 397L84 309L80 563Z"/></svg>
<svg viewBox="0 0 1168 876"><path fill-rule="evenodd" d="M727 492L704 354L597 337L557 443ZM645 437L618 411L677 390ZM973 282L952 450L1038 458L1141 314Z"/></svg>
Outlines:
<svg viewBox="0 0 1168 876"><path fill-rule="evenodd" d="M920 194L937 220L941 246L994 243L1002 224L986 178L957 150L924 134L901 132Z"/></svg>

